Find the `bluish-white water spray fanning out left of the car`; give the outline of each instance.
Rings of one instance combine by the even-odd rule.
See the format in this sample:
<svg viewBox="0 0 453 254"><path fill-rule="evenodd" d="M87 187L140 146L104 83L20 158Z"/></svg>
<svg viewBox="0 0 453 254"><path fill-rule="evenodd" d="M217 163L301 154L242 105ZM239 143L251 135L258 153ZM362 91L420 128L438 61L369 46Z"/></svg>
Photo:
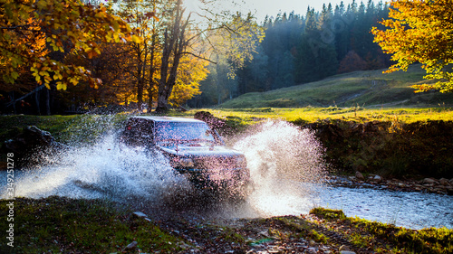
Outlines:
<svg viewBox="0 0 453 254"><path fill-rule="evenodd" d="M25 170L20 175L15 196L153 202L189 187L186 178L175 174L163 155L120 146L115 135L105 136L93 146L46 155L46 159L39 169Z"/></svg>

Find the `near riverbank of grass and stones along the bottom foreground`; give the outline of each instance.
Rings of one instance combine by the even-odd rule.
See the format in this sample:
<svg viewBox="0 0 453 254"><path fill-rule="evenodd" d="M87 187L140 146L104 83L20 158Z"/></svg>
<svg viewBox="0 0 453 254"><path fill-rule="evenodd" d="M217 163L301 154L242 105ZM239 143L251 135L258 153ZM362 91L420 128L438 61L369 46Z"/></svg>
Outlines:
<svg viewBox="0 0 453 254"><path fill-rule="evenodd" d="M10 201L2 200L5 206ZM0 211L5 218L8 211ZM453 230L407 230L341 211L210 221L164 219L105 200L14 200L14 248L2 253L451 253ZM6 231L1 223L1 231ZM7 226L6 226L7 227ZM93 232L95 232L93 234ZM341 252L342 250L343 252ZM344 252L346 250L352 252Z"/></svg>

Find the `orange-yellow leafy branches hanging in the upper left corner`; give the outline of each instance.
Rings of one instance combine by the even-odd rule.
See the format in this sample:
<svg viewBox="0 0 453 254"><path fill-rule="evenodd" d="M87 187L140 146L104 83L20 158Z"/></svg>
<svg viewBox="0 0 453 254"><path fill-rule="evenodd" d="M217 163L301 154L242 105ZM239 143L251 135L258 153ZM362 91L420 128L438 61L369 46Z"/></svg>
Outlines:
<svg viewBox="0 0 453 254"><path fill-rule="evenodd" d="M46 52L101 53L99 42L140 41L130 26L104 5L79 0L2 0L0 2L0 64L5 82L14 83L20 68L29 68L38 84L66 89L81 80L93 87L101 80L91 71L56 61Z"/></svg>

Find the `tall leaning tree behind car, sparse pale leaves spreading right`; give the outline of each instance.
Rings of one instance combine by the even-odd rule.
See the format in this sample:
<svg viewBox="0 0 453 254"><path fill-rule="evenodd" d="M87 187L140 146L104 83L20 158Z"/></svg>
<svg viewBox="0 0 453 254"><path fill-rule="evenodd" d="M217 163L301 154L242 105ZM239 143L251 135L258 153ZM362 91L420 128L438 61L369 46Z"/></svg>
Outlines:
<svg viewBox="0 0 453 254"><path fill-rule="evenodd" d="M207 5L217 1L202 1ZM215 7L215 6L214 6ZM169 99L180 75L179 64L183 57L215 63L213 57L222 54L230 63L231 70L240 68L247 59L252 59L257 44L264 37L262 28L251 14L228 12L216 13L206 7L205 14L198 14L206 21L202 27L193 24L191 14L186 14L181 0L170 11L172 18L163 33L162 56L159 77L157 111L169 108ZM234 71L230 71L231 77Z"/></svg>

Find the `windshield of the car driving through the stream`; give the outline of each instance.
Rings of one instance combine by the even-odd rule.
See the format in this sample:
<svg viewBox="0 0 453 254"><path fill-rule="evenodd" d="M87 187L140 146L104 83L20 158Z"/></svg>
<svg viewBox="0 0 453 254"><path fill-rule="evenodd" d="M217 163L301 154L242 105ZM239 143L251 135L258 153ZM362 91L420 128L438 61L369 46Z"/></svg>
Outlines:
<svg viewBox="0 0 453 254"><path fill-rule="evenodd" d="M156 141L215 142L209 127L203 123L157 122Z"/></svg>

